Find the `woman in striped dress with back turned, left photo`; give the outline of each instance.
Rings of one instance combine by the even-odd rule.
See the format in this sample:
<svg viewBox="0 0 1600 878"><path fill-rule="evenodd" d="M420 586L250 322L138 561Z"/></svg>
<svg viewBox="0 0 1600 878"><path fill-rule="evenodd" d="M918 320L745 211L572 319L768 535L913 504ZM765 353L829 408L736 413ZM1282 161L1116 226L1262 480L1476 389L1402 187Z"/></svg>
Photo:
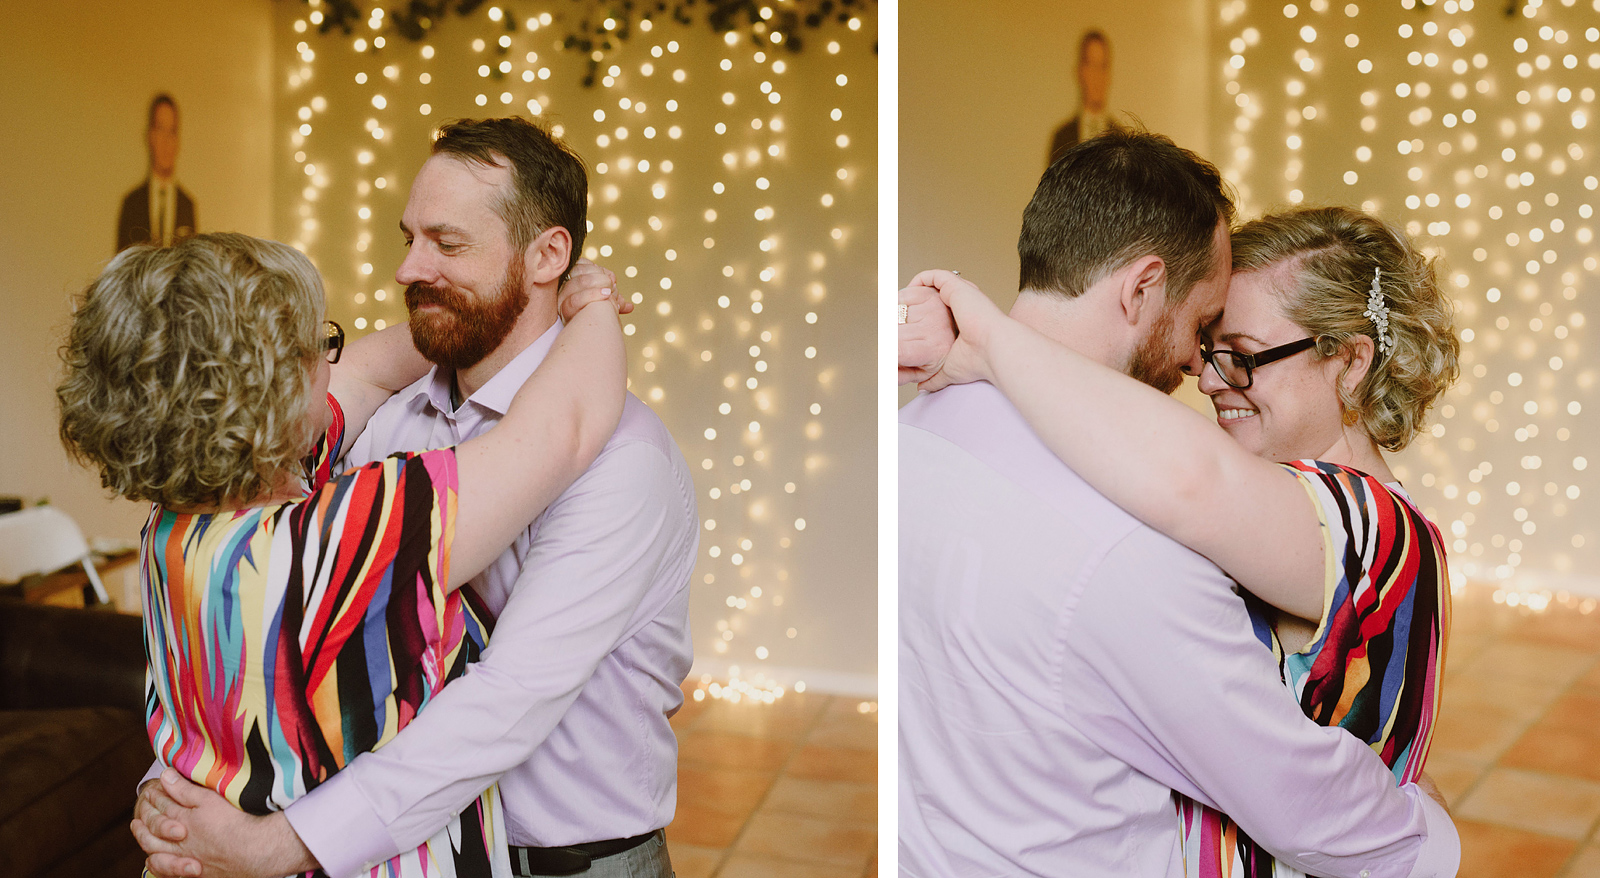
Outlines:
<svg viewBox="0 0 1600 878"><path fill-rule="evenodd" d="M466 670L488 616L458 589L616 429L613 301L598 269L574 275L566 328L488 433L339 473L366 419L430 366L406 326L346 350L315 269L275 241L211 233L112 259L56 395L70 453L154 504L139 573L160 763L266 816ZM496 790L373 873L509 875Z"/></svg>

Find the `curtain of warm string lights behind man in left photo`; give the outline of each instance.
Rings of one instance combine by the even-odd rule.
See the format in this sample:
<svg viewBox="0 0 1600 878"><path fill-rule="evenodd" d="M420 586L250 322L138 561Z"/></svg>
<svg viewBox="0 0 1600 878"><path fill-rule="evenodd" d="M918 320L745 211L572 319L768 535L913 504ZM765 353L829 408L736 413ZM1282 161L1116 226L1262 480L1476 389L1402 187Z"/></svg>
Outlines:
<svg viewBox="0 0 1600 878"><path fill-rule="evenodd" d="M381 8L366 34L315 35L318 0L288 24L288 144L306 179L285 218L293 243L323 272L336 318L355 329L405 320L386 275L403 257L394 224L432 126L499 114L550 123L590 168L586 256L635 302L624 318L630 389L696 470L694 593L720 598L714 624L694 632L696 654L728 664L702 675L694 697L803 691L763 668L803 637L784 624L786 601L803 597L789 552L805 539L808 488L838 454L824 441L843 353L829 349L830 262L875 249L862 181L874 154L859 136L875 118L845 109L875 88L854 74L872 69L872 22L824 27L808 53L779 56L739 34L640 21L584 90L587 56L558 46L550 13L512 30L509 16L486 6L422 43L387 45ZM830 155L816 152L821 138Z"/></svg>

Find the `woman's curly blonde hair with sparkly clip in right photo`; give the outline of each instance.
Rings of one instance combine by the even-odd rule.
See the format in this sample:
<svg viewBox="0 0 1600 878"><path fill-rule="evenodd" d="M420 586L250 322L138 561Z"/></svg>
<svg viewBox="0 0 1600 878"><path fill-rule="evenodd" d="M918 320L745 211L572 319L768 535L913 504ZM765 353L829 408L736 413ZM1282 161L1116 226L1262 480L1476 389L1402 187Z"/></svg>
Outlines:
<svg viewBox="0 0 1600 878"><path fill-rule="evenodd" d="M1434 264L1394 225L1350 208L1298 208L1254 219L1234 232L1234 270L1291 262L1294 288L1283 313L1334 357L1355 336L1373 339L1374 360L1339 401L1379 446L1400 451L1422 429L1427 409L1461 373L1454 302ZM1378 273L1389 307L1394 349L1378 350L1366 299ZM1349 368L1349 366L1346 366ZM1341 377L1344 373L1341 373Z"/></svg>

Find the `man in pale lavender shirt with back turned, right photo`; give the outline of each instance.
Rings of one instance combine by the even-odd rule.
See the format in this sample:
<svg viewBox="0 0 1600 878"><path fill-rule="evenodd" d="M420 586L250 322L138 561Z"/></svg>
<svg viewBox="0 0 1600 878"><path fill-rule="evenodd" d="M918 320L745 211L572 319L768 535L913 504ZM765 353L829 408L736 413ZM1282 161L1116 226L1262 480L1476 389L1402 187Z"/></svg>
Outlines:
<svg viewBox="0 0 1600 878"><path fill-rule="evenodd" d="M1011 317L1170 392L1222 309L1230 218L1216 170L1165 138L1080 144L1022 216ZM899 441L901 875L1176 878L1174 792L1312 875L1456 873L1445 809L1301 713L1227 576L1085 485L995 387L917 398Z"/></svg>

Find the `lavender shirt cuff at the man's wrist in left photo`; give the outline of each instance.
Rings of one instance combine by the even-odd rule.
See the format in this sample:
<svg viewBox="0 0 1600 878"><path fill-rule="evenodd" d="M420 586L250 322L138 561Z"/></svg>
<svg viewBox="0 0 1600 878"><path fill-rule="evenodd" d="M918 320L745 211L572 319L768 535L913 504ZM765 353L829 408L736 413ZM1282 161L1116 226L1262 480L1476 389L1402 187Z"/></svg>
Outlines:
<svg viewBox="0 0 1600 878"><path fill-rule="evenodd" d="M333 878L358 875L395 854L389 827L347 771L291 801L283 816Z"/></svg>

